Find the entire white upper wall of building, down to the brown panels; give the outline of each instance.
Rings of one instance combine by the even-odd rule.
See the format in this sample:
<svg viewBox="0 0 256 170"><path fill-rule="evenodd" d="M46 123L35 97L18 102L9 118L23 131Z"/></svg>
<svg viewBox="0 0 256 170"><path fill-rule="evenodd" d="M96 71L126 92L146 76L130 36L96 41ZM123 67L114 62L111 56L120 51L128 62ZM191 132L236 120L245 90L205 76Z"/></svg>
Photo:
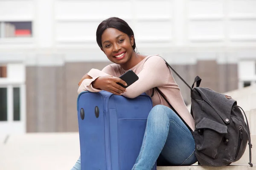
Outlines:
<svg viewBox="0 0 256 170"><path fill-rule="evenodd" d="M0 62L53 63L56 54L61 63L106 60L96 28L113 16L134 30L139 52L161 54L173 64L253 61L255 7L255 0L0 0L0 22L33 22L33 37L0 37Z"/></svg>

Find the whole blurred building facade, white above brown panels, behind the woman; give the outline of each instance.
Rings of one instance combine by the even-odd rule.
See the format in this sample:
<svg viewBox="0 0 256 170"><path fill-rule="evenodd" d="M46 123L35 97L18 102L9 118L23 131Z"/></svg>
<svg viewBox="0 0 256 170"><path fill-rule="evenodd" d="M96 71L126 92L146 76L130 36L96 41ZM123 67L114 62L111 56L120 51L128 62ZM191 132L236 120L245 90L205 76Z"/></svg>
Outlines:
<svg viewBox="0 0 256 170"><path fill-rule="evenodd" d="M140 54L160 54L218 92L256 82L255 0L0 0L0 133L77 131L78 82L110 64L96 43L127 21ZM184 100L189 89L174 75Z"/></svg>

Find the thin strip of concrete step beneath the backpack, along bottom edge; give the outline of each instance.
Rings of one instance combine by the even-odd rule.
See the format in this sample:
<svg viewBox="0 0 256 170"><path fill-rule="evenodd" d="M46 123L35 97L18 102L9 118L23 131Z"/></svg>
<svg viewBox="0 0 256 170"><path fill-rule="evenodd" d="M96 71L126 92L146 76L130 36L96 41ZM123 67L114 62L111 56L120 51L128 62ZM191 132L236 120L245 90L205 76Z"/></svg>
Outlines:
<svg viewBox="0 0 256 170"><path fill-rule="evenodd" d="M177 167L157 167L157 170L256 170L256 166L249 165L229 165L225 167L203 167L200 165L177 166Z"/></svg>

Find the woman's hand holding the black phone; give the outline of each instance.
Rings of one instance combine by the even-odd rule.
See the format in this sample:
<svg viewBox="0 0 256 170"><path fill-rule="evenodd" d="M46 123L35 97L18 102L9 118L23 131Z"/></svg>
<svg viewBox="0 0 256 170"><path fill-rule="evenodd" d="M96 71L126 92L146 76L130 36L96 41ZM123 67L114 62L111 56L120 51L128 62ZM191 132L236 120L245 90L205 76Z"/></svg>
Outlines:
<svg viewBox="0 0 256 170"><path fill-rule="evenodd" d="M93 85L93 88L108 91L116 95L122 95L126 91L126 89L123 88L121 85L116 84L116 82L119 82L127 86L125 81L123 81L118 77L112 77L112 76L98 77L96 80L92 82L92 85Z"/></svg>

